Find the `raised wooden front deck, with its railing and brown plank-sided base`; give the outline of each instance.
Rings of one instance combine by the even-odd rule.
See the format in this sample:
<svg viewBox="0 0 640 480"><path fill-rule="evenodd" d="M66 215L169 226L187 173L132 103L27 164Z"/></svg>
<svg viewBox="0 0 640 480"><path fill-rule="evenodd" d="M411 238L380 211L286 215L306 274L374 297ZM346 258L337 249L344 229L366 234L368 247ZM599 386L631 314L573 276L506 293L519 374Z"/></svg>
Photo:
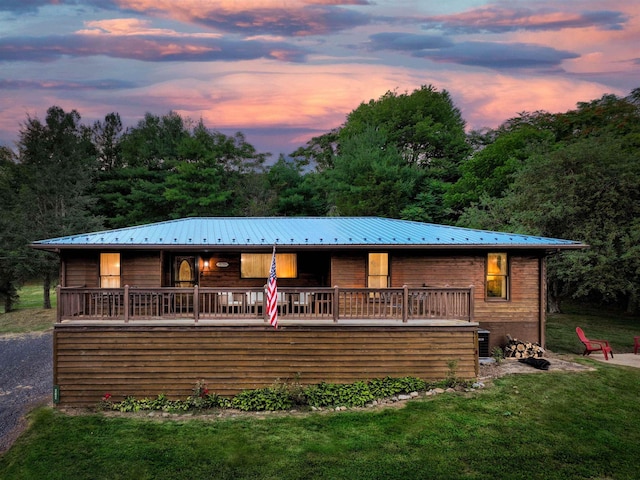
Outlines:
<svg viewBox="0 0 640 480"><path fill-rule="evenodd" d="M279 328L261 289L58 289L60 405L166 394L199 380L219 395L299 379L438 380L478 373L473 289L281 289Z"/></svg>

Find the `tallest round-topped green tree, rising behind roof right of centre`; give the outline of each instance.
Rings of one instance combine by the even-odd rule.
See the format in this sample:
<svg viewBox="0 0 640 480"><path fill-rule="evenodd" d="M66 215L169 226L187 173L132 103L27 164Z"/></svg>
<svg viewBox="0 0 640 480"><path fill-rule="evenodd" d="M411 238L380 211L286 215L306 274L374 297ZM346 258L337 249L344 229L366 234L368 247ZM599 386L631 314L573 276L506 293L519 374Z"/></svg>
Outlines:
<svg viewBox="0 0 640 480"><path fill-rule="evenodd" d="M433 86L422 86L412 93L389 91L377 100L362 103L340 128L313 138L293 155L298 160L315 162L317 175L309 178L325 190L334 213L367 211L370 215L450 223L444 195L459 178L460 163L471 151L464 129L462 115L447 91L438 92ZM379 135L374 143L362 143L363 138L373 138L372 132ZM379 143L380 138L384 139L383 144ZM392 157L403 163L396 165L400 173L389 171L392 178L384 178L380 168L389 167ZM367 166L367 158L375 166ZM348 167L345 162L350 161L355 163ZM405 166L411 168L404 169ZM371 178L377 178L378 183L363 179L361 172L373 170L376 173ZM409 172L412 177L404 178ZM360 178L361 184L347 189L348 175ZM400 175L403 180L396 183L398 178L393 175ZM341 189L336 189L334 181L340 182ZM399 190L392 192L389 185ZM381 192L386 192L386 200L379 197ZM408 192L412 192L409 197ZM361 202L358 208L356 197ZM391 205L394 201L398 203Z"/></svg>

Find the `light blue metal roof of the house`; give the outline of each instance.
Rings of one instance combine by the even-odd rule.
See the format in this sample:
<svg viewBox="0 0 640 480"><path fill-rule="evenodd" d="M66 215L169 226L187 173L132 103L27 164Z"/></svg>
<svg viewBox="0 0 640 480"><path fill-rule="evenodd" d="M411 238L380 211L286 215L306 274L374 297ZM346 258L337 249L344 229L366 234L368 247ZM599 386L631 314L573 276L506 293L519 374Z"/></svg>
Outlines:
<svg viewBox="0 0 640 480"><path fill-rule="evenodd" d="M34 248L170 247L583 248L571 240L379 217L194 217L40 240Z"/></svg>

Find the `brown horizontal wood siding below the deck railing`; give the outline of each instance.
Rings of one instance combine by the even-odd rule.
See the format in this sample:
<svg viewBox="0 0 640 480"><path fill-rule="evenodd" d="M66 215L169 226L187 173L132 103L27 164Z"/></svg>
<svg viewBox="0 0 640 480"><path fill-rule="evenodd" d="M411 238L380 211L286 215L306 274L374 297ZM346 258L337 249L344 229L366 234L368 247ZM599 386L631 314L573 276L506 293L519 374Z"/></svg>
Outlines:
<svg viewBox="0 0 640 480"><path fill-rule="evenodd" d="M478 374L474 326L76 327L54 330L60 405L95 406L105 393L185 398L204 379L231 396L300 375L302 384L387 375L443 379Z"/></svg>

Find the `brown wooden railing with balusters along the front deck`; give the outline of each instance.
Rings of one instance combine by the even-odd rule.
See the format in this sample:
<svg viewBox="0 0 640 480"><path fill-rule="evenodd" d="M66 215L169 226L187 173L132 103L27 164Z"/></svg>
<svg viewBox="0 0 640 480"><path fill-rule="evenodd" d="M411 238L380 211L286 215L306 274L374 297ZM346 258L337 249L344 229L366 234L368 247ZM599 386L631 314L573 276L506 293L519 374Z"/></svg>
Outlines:
<svg viewBox="0 0 640 480"><path fill-rule="evenodd" d="M262 288L58 287L65 320L266 319ZM279 288L282 319L473 321L469 288Z"/></svg>

